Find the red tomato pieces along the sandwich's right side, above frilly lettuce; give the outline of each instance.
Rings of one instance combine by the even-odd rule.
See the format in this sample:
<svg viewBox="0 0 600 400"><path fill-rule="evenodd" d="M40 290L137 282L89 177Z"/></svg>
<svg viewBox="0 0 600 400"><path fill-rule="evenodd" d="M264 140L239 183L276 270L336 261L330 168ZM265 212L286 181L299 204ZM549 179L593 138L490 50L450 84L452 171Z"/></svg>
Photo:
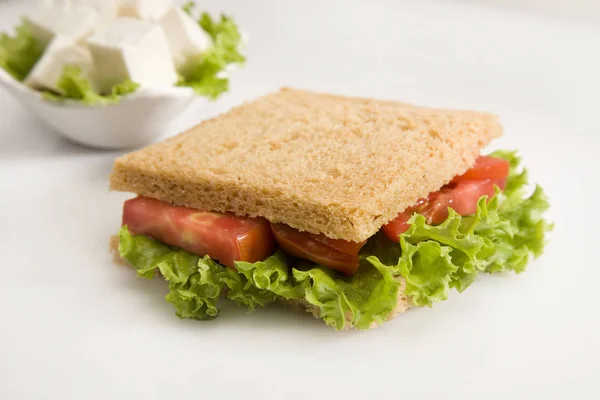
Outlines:
<svg viewBox="0 0 600 400"><path fill-rule="evenodd" d="M448 207L458 214L467 216L477 212L477 201L487 195L491 199L495 194L494 186L504 187L506 181L460 181L443 187L425 200L420 200L416 206L409 207L398 214L396 219L383 226L385 235L395 242L400 234L410 228L408 220L414 213L422 214L431 225L441 224L448 218Z"/></svg>

